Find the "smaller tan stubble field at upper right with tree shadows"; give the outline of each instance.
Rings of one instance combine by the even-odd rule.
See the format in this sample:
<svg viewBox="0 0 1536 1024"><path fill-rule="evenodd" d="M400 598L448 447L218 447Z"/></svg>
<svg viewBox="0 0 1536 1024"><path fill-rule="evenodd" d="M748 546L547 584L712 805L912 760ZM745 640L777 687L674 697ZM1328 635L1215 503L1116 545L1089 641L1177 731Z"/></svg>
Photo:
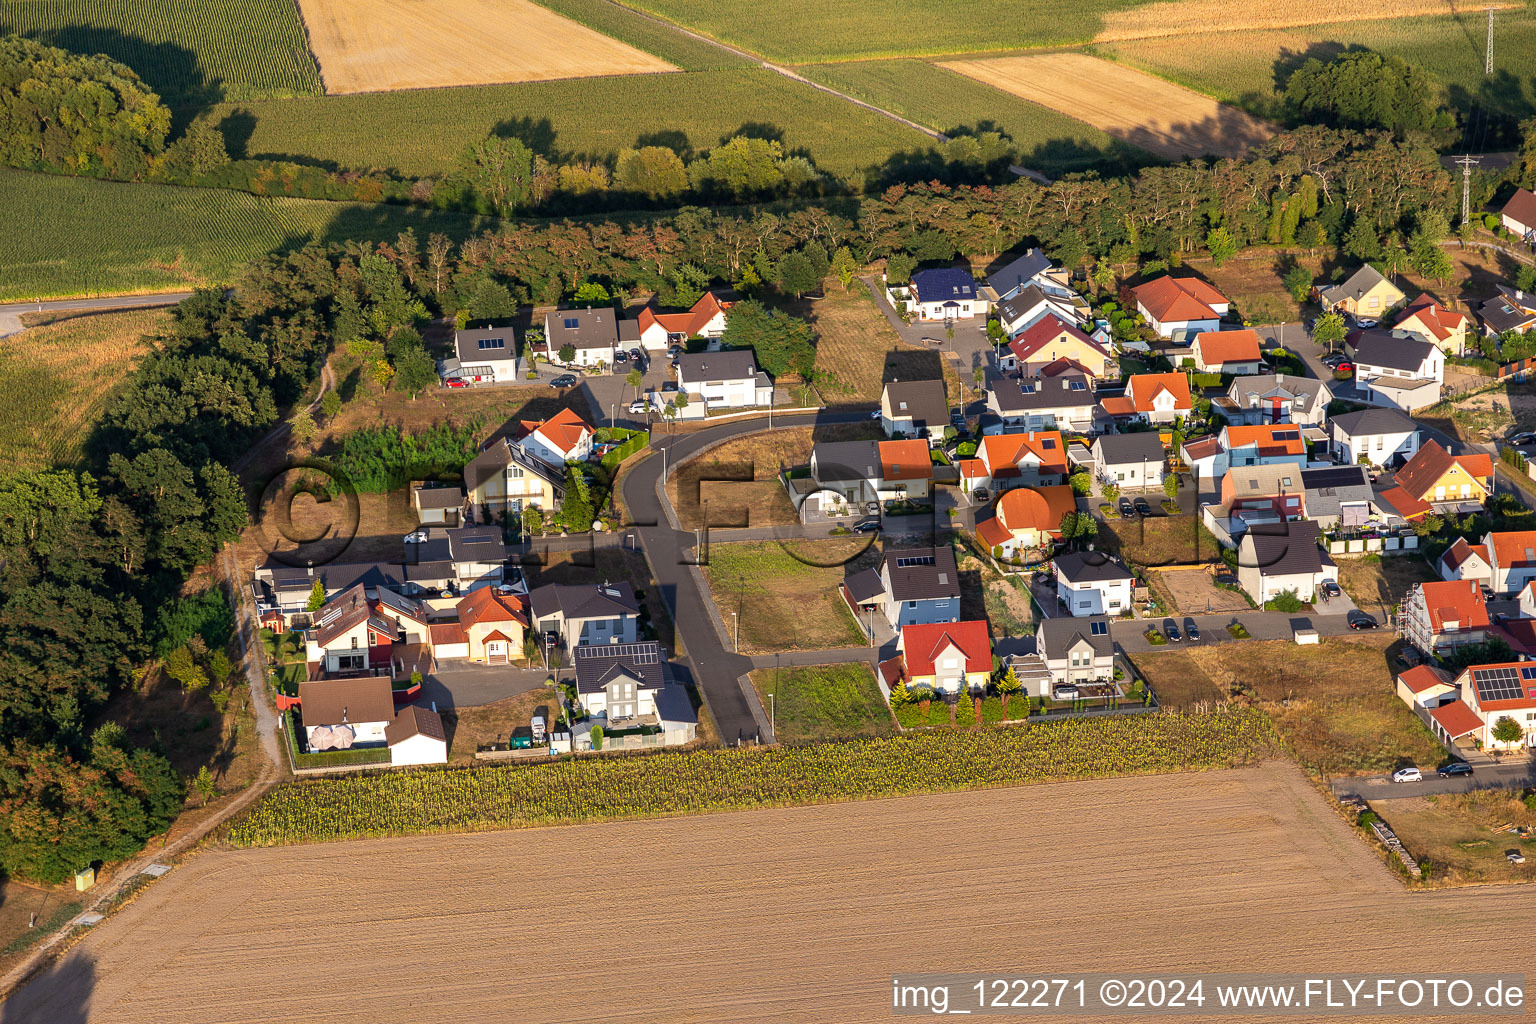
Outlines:
<svg viewBox="0 0 1536 1024"><path fill-rule="evenodd" d="M1081 118L1167 160L1243 157L1275 127L1198 92L1086 54L1038 54L943 64L1005 92Z"/></svg>

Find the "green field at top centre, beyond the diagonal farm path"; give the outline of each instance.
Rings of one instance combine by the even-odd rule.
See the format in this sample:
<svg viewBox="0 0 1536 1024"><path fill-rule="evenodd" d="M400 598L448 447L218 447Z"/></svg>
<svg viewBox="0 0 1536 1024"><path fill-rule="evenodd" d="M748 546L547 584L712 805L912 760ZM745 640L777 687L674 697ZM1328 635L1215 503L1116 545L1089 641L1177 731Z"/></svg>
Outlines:
<svg viewBox="0 0 1536 1024"><path fill-rule="evenodd" d="M1138 0L779 0L743 8L720 0L630 0L690 29L785 61L922 57L1083 43L1100 15Z"/></svg>

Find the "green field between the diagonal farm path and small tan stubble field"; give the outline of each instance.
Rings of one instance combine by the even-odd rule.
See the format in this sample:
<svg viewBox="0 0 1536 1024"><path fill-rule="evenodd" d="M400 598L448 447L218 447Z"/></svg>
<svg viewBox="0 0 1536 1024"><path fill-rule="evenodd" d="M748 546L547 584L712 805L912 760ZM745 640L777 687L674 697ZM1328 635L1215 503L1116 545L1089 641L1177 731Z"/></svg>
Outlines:
<svg viewBox="0 0 1536 1024"><path fill-rule="evenodd" d="M995 127L1018 143L1026 167L1049 175L1098 164L1106 154L1146 160L1091 124L925 60L854 60L799 71L940 132Z"/></svg>

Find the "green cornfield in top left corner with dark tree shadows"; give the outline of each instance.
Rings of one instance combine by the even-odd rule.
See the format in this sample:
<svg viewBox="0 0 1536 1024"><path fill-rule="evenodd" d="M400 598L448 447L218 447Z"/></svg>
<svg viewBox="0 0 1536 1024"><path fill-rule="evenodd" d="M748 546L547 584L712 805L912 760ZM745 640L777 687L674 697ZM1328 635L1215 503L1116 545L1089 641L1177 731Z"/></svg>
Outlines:
<svg viewBox="0 0 1536 1024"><path fill-rule="evenodd" d="M3 32L106 54L169 106L321 92L295 0L3 0Z"/></svg>

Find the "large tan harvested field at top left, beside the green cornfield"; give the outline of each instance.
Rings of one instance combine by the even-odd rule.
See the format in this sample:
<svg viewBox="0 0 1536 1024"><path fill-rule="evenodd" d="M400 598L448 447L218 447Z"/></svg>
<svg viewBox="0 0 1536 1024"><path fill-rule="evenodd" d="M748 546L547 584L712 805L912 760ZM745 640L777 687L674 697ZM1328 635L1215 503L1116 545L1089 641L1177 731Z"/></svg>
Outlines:
<svg viewBox="0 0 1536 1024"><path fill-rule="evenodd" d="M300 0L326 92L677 71L528 0Z"/></svg>

